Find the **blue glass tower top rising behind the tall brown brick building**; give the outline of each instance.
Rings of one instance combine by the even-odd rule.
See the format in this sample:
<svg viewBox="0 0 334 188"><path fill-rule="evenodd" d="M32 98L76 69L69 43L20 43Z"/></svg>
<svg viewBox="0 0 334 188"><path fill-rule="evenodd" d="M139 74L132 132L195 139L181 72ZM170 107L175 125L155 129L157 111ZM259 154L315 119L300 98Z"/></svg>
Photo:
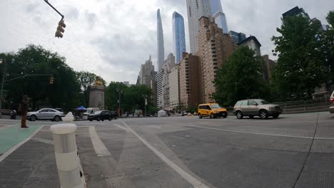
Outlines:
<svg viewBox="0 0 334 188"><path fill-rule="evenodd" d="M223 28L223 33L228 33L226 16L221 8L221 0L211 0L211 11L218 28Z"/></svg>

